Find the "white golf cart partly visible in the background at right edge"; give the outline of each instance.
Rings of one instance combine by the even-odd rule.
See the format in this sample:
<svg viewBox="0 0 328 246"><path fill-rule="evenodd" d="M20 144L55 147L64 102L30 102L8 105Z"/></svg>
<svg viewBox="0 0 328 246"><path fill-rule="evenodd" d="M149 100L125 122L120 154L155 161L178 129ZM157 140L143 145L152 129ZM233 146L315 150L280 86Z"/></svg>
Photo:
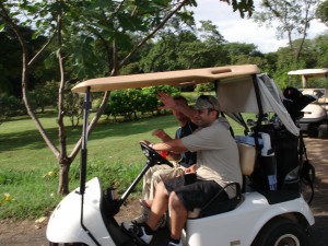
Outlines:
<svg viewBox="0 0 328 246"><path fill-rule="evenodd" d="M290 71L288 74L290 77L301 75L302 89L300 89L300 91L302 91L303 95L312 95L315 98L312 104L308 104L304 109L302 109L304 116L298 121L301 130L311 137L327 139L328 138L328 115L327 115L328 69L302 69L302 70ZM324 78L326 80L326 84L324 89L316 89L309 86L311 79L317 79L317 78Z"/></svg>

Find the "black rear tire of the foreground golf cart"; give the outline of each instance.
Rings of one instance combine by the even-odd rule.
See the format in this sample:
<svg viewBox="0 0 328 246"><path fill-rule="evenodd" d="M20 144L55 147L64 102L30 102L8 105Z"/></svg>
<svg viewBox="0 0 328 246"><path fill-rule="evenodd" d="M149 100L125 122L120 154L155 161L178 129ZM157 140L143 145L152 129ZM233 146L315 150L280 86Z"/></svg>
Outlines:
<svg viewBox="0 0 328 246"><path fill-rule="evenodd" d="M309 246L309 237L301 224L278 218L259 232L251 246Z"/></svg>

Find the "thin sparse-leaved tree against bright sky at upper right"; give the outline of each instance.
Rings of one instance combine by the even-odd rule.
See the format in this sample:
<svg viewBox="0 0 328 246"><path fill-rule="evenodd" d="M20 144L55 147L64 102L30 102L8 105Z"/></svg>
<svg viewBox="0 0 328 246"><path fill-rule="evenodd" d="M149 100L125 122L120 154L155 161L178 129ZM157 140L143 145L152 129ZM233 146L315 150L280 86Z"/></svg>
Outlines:
<svg viewBox="0 0 328 246"><path fill-rule="evenodd" d="M278 22L277 36L282 38L288 35L290 50L294 54L294 61L297 62L304 40L307 36L311 22L315 19L315 9L319 0L262 0L260 9L253 15L255 22L259 25L267 24L272 26L273 21ZM293 40L301 36L297 46Z"/></svg>

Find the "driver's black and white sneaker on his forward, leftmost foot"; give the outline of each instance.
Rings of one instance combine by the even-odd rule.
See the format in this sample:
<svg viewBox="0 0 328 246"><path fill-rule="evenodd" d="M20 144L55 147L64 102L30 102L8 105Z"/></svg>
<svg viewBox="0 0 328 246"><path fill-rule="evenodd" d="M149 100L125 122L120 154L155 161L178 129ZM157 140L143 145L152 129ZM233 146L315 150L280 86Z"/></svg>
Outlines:
<svg viewBox="0 0 328 246"><path fill-rule="evenodd" d="M137 241L138 245L149 245L153 238L153 235L148 235L145 233L142 224L136 222L122 222L121 227Z"/></svg>

